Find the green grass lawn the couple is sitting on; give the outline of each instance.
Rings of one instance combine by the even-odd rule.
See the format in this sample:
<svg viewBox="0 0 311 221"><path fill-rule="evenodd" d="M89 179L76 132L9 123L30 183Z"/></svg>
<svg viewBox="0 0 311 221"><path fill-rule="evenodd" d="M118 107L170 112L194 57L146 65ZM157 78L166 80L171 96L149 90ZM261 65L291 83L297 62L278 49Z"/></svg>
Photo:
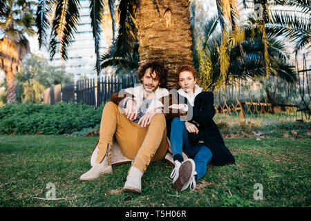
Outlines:
<svg viewBox="0 0 311 221"><path fill-rule="evenodd" d="M164 160L151 163L142 194L122 193L130 164L82 182L98 137L0 136L0 206L311 206L311 139L230 138L236 164L208 168L196 191L177 192ZM55 184L56 198L45 198ZM254 184L263 200L254 200Z"/></svg>

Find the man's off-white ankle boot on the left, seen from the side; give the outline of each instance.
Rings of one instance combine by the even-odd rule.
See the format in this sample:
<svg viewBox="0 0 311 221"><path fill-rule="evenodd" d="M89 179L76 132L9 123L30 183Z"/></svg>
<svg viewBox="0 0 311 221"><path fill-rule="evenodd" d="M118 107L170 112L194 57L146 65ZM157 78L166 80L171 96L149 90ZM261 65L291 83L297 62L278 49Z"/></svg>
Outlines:
<svg viewBox="0 0 311 221"><path fill-rule="evenodd" d="M112 173L112 166L108 164L108 157L104 157L100 164L94 163L91 170L82 174L79 180L95 180L104 173Z"/></svg>

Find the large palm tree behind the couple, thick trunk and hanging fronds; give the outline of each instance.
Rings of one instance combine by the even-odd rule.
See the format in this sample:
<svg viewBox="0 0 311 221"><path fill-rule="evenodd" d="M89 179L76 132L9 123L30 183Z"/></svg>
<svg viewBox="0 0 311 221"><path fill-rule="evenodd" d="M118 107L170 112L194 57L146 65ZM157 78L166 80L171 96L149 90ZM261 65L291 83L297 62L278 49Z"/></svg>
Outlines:
<svg viewBox="0 0 311 221"><path fill-rule="evenodd" d="M191 25L189 20L189 1L169 0L120 0L117 11L119 16L118 35L113 39L112 50L100 57L98 39L100 39L100 23L104 0L90 1L93 37L95 39L95 52L97 54L97 75L99 67L103 68L110 64L114 66L134 66L137 68L138 56L135 50L138 47L139 63L147 61L163 61L169 69L169 86L176 81L176 70L182 64L194 64L191 48ZM109 3L112 19L115 5L114 0ZM265 0L261 0L265 3ZM225 81L228 73L230 57L229 48L238 45L241 48L243 32L239 32L238 10L236 0L216 0L220 26L222 28L220 54L220 81ZM55 19L51 23L52 35L49 46L50 55L53 57L57 48L66 59L66 49L70 45L79 25L79 1L77 0L41 0L37 10L37 26L39 30L40 45L46 39L46 27L48 19L46 15ZM265 16L265 19L269 17ZM264 20L265 20L264 19ZM114 26L113 26L114 27ZM261 27L265 27L261 23ZM230 33L230 34L229 34ZM262 31L262 39L265 40L265 29ZM266 43L266 41L263 41ZM267 44L263 47L265 55L265 73L269 67L267 56ZM99 63L101 64L99 65ZM135 64L135 65L134 65ZM196 65L196 64L194 64Z"/></svg>

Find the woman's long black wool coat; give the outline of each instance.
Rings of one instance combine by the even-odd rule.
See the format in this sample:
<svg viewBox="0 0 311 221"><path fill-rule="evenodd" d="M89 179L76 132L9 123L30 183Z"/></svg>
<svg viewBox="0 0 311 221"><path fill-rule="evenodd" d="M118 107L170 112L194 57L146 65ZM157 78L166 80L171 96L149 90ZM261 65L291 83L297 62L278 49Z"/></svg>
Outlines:
<svg viewBox="0 0 311 221"><path fill-rule="evenodd" d="M212 160L214 160L216 166L234 164L234 156L227 146L225 146L223 137L213 120L216 113L214 108L214 94L209 91L202 91L196 95L194 106L189 104L186 97L178 94L178 104L188 105L188 115L192 111L192 118L188 122L195 124L199 130L198 134L188 132L189 140L194 144L202 140L211 150L213 154Z"/></svg>

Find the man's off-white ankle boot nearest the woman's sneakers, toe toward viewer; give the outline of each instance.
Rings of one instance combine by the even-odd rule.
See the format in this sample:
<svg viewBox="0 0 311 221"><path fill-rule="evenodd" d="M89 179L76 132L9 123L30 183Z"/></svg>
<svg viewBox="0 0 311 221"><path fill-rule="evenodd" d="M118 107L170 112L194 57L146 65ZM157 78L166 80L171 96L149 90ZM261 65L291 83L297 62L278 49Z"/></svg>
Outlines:
<svg viewBox="0 0 311 221"><path fill-rule="evenodd" d="M135 166L131 166L123 190L142 193L142 171Z"/></svg>

